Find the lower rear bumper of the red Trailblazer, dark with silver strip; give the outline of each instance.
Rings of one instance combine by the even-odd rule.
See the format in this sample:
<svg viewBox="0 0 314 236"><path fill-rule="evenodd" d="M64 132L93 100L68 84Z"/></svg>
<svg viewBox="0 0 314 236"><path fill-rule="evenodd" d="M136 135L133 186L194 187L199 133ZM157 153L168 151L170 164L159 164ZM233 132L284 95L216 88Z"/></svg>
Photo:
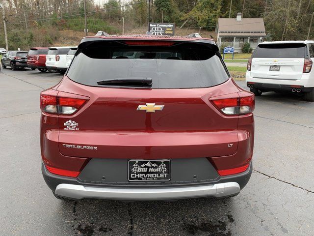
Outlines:
<svg viewBox="0 0 314 236"><path fill-rule="evenodd" d="M42 173L47 185L56 195L71 199L115 200L174 200L185 198L234 196L247 184L252 174L252 163L243 173L219 177L207 183L175 184L166 186L125 186L81 183L74 177L62 177L47 171L42 164Z"/></svg>

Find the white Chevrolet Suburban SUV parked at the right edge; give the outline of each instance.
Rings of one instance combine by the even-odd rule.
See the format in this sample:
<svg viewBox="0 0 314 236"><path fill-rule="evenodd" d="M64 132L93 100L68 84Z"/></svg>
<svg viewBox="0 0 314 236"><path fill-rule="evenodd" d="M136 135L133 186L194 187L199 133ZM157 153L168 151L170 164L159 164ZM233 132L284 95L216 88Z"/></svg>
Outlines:
<svg viewBox="0 0 314 236"><path fill-rule="evenodd" d="M247 64L247 86L256 96L286 90L314 101L313 61L313 40L260 43Z"/></svg>

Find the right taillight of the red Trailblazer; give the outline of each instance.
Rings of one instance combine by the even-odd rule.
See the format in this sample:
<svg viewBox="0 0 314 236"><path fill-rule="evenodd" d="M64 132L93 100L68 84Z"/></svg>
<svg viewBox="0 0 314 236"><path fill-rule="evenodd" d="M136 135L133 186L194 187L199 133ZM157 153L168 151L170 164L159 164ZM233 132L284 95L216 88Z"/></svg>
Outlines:
<svg viewBox="0 0 314 236"><path fill-rule="evenodd" d="M246 115L254 111L254 94L247 91L237 93L239 97L215 99L210 98L210 102L224 115L237 116Z"/></svg>

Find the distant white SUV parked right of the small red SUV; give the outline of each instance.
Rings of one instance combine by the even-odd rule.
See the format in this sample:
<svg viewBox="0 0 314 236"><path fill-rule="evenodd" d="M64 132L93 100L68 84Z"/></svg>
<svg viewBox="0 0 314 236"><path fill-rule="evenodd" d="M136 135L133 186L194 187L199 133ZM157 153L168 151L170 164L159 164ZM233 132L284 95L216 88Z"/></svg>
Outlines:
<svg viewBox="0 0 314 236"><path fill-rule="evenodd" d="M49 72L63 74L67 70L67 55L71 47L52 47L46 55L46 67Z"/></svg>

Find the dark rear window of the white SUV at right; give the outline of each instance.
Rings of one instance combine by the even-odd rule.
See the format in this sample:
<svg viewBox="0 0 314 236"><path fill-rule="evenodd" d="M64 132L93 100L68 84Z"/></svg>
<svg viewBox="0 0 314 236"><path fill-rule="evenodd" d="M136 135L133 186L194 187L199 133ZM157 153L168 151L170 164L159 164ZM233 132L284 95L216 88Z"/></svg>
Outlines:
<svg viewBox="0 0 314 236"><path fill-rule="evenodd" d="M260 44L253 58L304 58L305 44Z"/></svg>

